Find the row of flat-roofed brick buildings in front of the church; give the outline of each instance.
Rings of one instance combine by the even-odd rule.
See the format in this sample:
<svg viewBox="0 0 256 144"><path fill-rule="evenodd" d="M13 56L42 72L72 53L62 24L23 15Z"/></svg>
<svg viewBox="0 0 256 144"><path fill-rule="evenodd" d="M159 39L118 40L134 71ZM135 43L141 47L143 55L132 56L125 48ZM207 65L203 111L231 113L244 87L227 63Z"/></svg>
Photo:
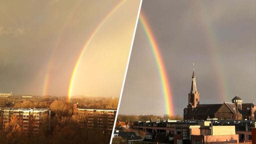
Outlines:
<svg viewBox="0 0 256 144"><path fill-rule="evenodd" d="M120 130L120 127L116 129ZM142 143L252 143L253 138L256 143L255 121L249 120L137 121L132 123L130 129L145 133ZM129 131L127 128L121 130ZM130 143L133 143L131 139Z"/></svg>

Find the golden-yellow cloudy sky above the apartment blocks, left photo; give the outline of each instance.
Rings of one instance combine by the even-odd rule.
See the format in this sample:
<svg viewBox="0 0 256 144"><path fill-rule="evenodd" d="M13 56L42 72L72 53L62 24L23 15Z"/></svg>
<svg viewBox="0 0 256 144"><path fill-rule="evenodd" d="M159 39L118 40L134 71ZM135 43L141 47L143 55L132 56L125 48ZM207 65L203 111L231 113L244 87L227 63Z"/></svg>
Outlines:
<svg viewBox="0 0 256 144"><path fill-rule="evenodd" d="M66 96L85 42L119 2L2 1L0 93ZM139 3L125 2L99 29L81 59L72 95L120 95Z"/></svg>

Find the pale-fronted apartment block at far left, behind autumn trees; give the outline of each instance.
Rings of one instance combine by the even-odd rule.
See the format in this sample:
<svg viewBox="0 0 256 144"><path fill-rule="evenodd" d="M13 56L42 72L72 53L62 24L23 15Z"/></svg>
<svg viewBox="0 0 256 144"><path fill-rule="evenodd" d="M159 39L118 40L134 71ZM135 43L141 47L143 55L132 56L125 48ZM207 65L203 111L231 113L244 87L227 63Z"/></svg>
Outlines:
<svg viewBox="0 0 256 144"><path fill-rule="evenodd" d="M3 130L5 124L10 121L12 115L17 115L21 120L20 126L24 131L33 130L39 131L41 127L50 128L50 109L43 108L0 108L0 130Z"/></svg>

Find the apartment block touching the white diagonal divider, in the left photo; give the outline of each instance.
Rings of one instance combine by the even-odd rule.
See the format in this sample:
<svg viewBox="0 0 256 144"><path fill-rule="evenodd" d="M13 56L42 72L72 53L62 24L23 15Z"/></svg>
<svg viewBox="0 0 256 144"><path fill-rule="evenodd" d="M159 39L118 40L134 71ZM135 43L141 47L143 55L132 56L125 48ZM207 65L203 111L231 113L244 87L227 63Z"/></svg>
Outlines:
<svg viewBox="0 0 256 144"><path fill-rule="evenodd" d="M86 117L81 127L112 132L117 109L81 108L77 104L74 104L73 109L76 114Z"/></svg>

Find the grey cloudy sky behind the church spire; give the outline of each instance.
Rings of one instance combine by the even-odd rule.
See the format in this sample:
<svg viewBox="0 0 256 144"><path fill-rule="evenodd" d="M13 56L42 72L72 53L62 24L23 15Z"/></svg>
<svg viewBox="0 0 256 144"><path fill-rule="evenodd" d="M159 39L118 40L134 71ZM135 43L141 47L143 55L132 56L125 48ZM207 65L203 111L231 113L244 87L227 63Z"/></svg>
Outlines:
<svg viewBox="0 0 256 144"><path fill-rule="evenodd" d="M255 1L143 1L164 60L175 114L188 104L193 63L200 104L256 103ZM138 24L119 114L165 114L160 79Z"/></svg>

